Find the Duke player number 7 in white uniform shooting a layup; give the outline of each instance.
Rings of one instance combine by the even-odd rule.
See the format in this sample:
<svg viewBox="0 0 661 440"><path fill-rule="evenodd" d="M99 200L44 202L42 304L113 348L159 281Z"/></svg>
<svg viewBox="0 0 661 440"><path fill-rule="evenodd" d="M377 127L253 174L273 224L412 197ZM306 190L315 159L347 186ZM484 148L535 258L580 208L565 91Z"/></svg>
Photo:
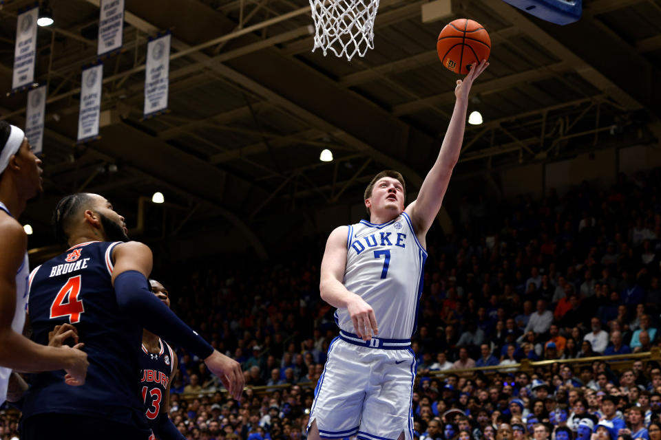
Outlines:
<svg viewBox="0 0 661 440"><path fill-rule="evenodd" d="M337 307L339 336L315 389L308 440L412 440L415 332L427 252L425 236L459 159L468 92L488 66L457 80L457 101L439 157L404 208L401 174L382 171L365 192L370 221L331 232L321 268L322 299Z"/></svg>

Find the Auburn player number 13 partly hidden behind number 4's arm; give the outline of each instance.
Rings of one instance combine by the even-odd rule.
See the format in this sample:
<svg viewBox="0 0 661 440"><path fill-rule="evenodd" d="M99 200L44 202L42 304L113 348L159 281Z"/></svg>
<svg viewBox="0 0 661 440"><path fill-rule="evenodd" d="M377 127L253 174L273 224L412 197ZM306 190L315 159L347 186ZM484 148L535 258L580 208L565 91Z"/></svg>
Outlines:
<svg viewBox="0 0 661 440"><path fill-rule="evenodd" d="M151 292L170 307L167 289L156 280L149 280ZM140 391L151 431L159 440L185 440L167 416L170 408L170 384L177 372L177 355L170 346L151 331L143 330L140 352Z"/></svg>

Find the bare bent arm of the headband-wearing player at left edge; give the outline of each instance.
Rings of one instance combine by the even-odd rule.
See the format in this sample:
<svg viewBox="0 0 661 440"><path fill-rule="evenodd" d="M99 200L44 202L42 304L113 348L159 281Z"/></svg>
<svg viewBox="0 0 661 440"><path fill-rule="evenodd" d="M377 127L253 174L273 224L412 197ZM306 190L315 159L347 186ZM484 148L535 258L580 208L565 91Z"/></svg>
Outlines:
<svg viewBox="0 0 661 440"><path fill-rule="evenodd" d="M12 219L0 224L0 366L24 373L71 371L76 383L83 384L87 374L87 354L71 347L47 347L36 344L12 330L16 308L16 273L25 256L27 237L21 225Z"/></svg>

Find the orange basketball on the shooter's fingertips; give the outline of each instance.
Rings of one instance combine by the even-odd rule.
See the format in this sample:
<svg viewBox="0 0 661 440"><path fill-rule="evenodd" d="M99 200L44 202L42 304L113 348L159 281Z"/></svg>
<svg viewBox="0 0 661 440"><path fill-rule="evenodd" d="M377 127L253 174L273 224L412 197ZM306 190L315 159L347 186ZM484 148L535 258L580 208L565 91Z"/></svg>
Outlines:
<svg viewBox="0 0 661 440"><path fill-rule="evenodd" d="M458 19L445 25L436 49L446 68L465 75L469 65L489 59L491 39L480 23Z"/></svg>

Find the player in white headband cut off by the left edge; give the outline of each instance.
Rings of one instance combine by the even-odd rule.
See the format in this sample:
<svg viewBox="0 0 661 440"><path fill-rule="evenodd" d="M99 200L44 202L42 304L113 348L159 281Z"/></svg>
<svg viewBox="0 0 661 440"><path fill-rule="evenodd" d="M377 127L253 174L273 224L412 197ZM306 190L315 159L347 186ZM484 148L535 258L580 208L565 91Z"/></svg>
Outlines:
<svg viewBox="0 0 661 440"><path fill-rule="evenodd" d="M29 199L41 192L41 160L23 130L0 122L0 405L7 397L12 370L65 369L67 383L85 382L87 355L72 347L45 347L21 336L28 303L28 237L17 218Z"/></svg>

